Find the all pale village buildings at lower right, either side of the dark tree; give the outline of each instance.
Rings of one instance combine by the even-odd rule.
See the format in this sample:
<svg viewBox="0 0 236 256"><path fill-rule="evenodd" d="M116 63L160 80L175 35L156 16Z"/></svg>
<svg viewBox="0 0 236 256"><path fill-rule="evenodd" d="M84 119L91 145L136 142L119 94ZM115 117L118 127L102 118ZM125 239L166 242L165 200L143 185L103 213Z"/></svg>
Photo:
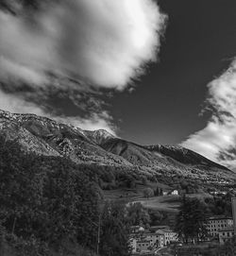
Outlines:
<svg viewBox="0 0 236 256"><path fill-rule="evenodd" d="M189 244L195 245L221 245L232 240L236 233L236 199L232 199L231 216L211 216L206 221L208 236L204 240L189 241ZM169 226L152 226L147 229L142 226L133 226L130 230L129 244L132 248L132 255L164 255L159 254L162 248L183 247L182 241L175 230Z"/></svg>

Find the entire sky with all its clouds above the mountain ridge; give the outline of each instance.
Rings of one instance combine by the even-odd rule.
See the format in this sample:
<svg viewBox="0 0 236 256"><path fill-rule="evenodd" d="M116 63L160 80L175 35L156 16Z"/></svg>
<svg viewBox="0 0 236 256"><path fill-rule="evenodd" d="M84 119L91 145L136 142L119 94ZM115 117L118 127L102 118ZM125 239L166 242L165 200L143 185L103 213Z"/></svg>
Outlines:
<svg viewBox="0 0 236 256"><path fill-rule="evenodd" d="M23 2L0 10L0 109L236 168L234 0Z"/></svg>

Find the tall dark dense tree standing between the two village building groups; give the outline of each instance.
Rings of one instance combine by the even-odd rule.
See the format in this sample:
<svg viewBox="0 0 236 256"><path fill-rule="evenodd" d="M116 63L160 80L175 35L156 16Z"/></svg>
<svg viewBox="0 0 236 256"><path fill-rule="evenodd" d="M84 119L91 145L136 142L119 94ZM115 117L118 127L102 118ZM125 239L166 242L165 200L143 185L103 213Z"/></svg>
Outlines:
<svg viewBox="0 0 236 256"><path fill-rule="evenodd" d="M178 237L185 243L189 239L197 242L204 239L207 236L206 218L206 209L198 199L183 196L176 219Z"/></svg>

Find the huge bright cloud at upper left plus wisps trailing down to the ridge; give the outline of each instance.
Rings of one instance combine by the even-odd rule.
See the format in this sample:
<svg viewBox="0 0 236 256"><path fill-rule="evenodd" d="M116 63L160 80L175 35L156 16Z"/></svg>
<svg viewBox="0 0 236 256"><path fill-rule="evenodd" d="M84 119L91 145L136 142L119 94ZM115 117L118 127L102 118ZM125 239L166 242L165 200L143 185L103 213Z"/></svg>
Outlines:
<svg viewBox="0 0 236 256"><path fill-rule="evenodd" d="M48 2L35 12L16 0L9 3L17 15L0 10L0 81L5 89L0 108L48 115L39 104L48 99L47 92L62 90L77 106L71 91L81 91L81 83L52 82L52 76L83 80L84 91L90 90L88 84L123 90L146 63L157 60L166 17L153 0ZM24 94L23 85L28 88ZM98 109L82 123L110 129L107 111Z"/></svg>

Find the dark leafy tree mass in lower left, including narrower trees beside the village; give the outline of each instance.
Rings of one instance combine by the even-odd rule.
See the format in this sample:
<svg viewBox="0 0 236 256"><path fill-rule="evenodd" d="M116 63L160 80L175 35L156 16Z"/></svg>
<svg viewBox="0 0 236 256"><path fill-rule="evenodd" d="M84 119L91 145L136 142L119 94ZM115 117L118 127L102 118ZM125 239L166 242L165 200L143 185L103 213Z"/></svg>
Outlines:
<svg viewBox="0 0 236 256"><path fill-rule="evenodd" d="M68 159L25 155L1 137L0 145L0 251L67 255L69 244L77 250L68 255L79 255L97 250L99 230L101 255L128 255L126 207L101 212L95 174Z"/></svg>

